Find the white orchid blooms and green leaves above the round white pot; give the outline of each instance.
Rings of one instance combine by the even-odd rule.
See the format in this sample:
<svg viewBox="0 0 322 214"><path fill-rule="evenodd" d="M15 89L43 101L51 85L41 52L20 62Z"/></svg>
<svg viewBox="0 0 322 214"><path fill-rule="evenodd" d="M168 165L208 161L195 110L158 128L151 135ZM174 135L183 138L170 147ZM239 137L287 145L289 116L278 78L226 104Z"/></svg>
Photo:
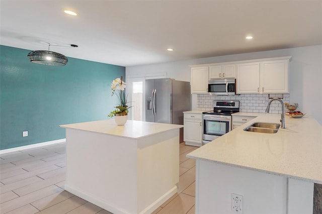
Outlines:
<svg viewBox="0 0 322 214"><path fill-rule="evenodd" d="M112 88L112 96L115 93L115 90L120 90L119 95L117 95L117 97L119 98L120 103L115 106L116 110L112 111L108 117L112 118L113 116L123 116L123 115L127 115L127 113L129 112L129 109L132 106L128 106L127 104L127 95L125 95L125 89L126 87L126 83L123 82L122 80L122 76L121 78L116 78L113 80L112 84L111 84L111 88Z"/></svg>

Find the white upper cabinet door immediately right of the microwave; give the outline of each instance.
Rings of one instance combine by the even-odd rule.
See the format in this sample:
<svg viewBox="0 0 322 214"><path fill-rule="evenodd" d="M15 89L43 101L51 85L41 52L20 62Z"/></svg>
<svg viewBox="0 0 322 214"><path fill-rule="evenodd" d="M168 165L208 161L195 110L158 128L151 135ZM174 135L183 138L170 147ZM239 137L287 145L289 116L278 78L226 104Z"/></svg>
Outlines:
<svg viewBox="0 0 322 214"><path fill-rule="evenodd" d="M259 93L260 63L240 63L236 66L236 93Z"/></svg>

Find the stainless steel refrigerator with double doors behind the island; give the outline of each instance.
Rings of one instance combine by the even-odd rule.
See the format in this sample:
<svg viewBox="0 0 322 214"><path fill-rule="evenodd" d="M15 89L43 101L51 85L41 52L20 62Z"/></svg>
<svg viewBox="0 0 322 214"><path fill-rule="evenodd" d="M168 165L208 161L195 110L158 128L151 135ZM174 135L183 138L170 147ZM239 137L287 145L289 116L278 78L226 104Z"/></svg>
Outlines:
<svg viewBox="0 0 322 214"><path fill-rule="evenodd" d="M145 80L145 121L183 125L183 112L190 110L190 82Z"/></svg>

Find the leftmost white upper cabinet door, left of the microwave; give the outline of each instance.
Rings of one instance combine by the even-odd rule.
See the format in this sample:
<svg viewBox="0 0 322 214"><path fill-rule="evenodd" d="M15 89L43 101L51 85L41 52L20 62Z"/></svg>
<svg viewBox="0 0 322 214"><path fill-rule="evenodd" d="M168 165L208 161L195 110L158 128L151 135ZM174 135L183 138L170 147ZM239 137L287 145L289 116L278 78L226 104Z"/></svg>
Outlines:
<svg viewBox="0 0 322 214"><path fill-rule="evenodd" d="M191 93L208 93L208 67L191 68Z"/></svg>

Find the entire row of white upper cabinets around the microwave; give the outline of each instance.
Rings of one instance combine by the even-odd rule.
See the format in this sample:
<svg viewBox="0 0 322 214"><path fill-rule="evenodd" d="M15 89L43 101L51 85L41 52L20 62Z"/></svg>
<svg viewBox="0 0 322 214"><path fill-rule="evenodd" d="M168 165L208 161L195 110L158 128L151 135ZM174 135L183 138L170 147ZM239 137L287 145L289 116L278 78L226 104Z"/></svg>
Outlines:
<svg viewBox="0 0 322 214"><path fill-rule="evenodd" d="M208 93L208 80L223 78L236 78L236 93L289 93L291 58L191 65L191 93Z"/></svg>

